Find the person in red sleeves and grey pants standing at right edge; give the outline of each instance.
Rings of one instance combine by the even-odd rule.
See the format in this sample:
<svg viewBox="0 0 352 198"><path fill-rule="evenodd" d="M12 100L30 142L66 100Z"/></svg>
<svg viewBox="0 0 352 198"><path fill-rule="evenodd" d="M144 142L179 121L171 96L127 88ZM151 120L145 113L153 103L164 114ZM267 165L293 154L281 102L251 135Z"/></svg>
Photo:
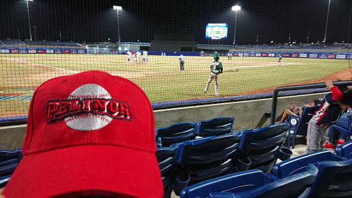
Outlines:
<svg viewBox="0 0 352 198"><path fill-rule="evenodd" d="M307 153L320 151L327 140L327 129L338 121L344 111L352 107L352 90L340 91L331 80L326 83L331 93L325 95L325 102L309 120L307 131Z"/></svg>

